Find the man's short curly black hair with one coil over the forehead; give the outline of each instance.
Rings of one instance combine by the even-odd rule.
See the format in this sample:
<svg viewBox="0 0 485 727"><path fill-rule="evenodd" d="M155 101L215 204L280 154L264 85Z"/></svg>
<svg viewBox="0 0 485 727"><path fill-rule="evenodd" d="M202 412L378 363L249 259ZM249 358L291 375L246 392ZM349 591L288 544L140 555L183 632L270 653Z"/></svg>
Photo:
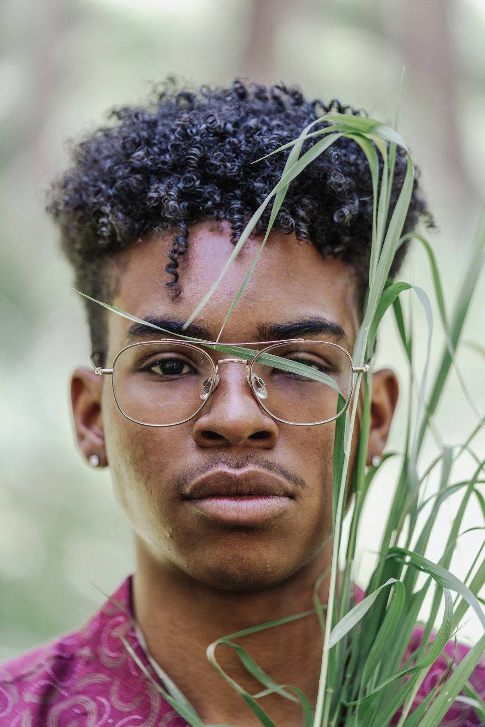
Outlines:
<svg viewBox="0 0 485 727"><path fill-rule="evenodd" d="M236 242L281 177L288 152L253 162L329 112L364 115L338 100L305 100L298 87L234 81L228 88L204 86L192 92L174 79L156 89L143 108L112 111L114 123L72 146L73 166L49 192L47 210L60 225L76 287L110 302L109 263L159 230L173 234L166 271L167 286L177 296L183 283L177 268L187 252L191 225L228 220ZM305 142L304 150L313 142ZM398 155L391 209L405 172L406 158ZM295 233L298 241L311 241L322 257L348 262L363 294L372 205L364 153L356 142L341 138L289 186L275 227ZM269 214L270 207L255 233L265 230ZM404 230L414 229L420 219L432 223L415 180ZM401 245L392 275L405 252ZM87 318L93 350L105 351L105 309L87 301Z"/></svg>

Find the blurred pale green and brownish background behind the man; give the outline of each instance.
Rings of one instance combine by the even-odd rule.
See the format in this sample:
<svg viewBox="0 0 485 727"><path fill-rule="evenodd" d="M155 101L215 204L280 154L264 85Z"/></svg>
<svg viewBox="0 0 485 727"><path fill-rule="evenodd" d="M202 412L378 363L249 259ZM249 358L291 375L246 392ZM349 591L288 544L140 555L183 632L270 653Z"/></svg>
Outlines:
<svg viewBox="0 0 485 727"><path fill-rule="evenodd" d="M436 216L430 235L451 310L485 188L485 0L3 0L0 4L0 660L83 622L132 570L132 542L108 472L90 469L73 442L68 379L89 346L71 273L44 214L44 193L65 163L66 137L95 128L113 105L143 100L175 73L193 84L234 77L302 85L306 95L393 121L406 67L399 130L422 169ZM430 292L419 246L403 273ZM465 342L484 347L484 278ZM407 308L408 302L405 301ZM419 306L417 371L426 334ZM441 352L438 319L433 363ZM404 360L385 323L378 363ZM485 413L485 359L458 358ZM400 449L398 409L390 449ZM477 413L457 379L436 416L443 443L463 441ZM483 438L477 450L485 451ZM428 443L423 467L436 452ZM482 454L483 457L483 454ZM465 473L469 463L462 465ZM382 467L361 537L365 585L396 466ZM471 466L471 465L470 465ZM437 523L430 556L449 530ZM473 525L476 513L468 513ZM481 524L478 521L477 524ZM468 539L467 539L468 538ZM471 538L471 542L470 542ZM466 572L481 531L465 536ZM468 638L473 640L473 624Z"/></svg>

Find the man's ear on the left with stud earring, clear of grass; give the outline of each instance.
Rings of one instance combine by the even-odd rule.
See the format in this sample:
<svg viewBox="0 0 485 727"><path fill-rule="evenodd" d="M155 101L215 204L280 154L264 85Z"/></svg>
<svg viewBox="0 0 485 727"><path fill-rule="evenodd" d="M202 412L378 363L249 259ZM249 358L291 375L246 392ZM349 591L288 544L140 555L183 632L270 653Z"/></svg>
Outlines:
<svg viewBox="0 0 485 727"><path fill-rule="evenodd" d="M71 379L71 403L79 448L88 461L95 454L99 459L99 466L107 467L101 414L102 390L103 377L90 369L79 368L74 371Z"/></svg>

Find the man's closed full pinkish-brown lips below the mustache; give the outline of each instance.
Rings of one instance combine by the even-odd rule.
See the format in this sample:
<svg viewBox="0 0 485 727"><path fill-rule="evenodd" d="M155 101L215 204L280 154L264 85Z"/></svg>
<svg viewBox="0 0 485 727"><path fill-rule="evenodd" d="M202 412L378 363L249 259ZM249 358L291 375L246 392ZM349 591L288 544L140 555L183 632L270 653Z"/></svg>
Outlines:
<svg viewBox="0 0 485 727"><path fill-rule="evenodd" d="M257 526L281 517L292 506L294 491L267 470L212 470L190 483L184 499L212 521Z"/></svg>

